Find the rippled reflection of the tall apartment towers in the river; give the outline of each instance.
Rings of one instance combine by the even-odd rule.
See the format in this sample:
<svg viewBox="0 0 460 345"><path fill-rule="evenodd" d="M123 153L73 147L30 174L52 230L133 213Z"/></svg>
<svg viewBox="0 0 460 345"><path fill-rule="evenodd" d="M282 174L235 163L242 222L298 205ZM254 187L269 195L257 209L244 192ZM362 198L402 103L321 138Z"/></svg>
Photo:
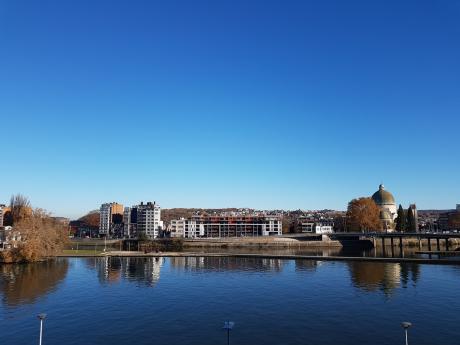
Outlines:
<svg viewBox="0 0 460 345"><path fill-rule="evenodd" d="M117 283L123 278L155 286L164 261L164 258L105 257L96 259L94 265L101 283Z"/></svg>

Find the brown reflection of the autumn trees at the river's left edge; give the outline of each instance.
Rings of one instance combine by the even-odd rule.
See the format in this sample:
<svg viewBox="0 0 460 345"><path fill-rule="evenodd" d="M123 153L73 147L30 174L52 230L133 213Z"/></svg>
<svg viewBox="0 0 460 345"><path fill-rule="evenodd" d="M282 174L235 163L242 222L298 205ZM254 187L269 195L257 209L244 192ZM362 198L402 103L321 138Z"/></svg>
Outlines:
<svg viewBox="0 0 460 345"><path fill-rule="evenodd" d="M64 280L67 260L50 260L28 265L0 265L0 292L6 305L34 303Z"/></svg>

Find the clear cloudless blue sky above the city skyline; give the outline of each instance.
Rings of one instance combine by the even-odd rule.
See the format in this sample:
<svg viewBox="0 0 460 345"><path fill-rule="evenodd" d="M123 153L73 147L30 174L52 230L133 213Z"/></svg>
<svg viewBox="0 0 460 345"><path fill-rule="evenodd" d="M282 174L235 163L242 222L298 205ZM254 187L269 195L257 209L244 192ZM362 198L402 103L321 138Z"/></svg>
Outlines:
<svg viewBox="0 0 460 345"><path fill-rule="evenodd" d="M460 203L458 1L0 1L0 202Z"/></svg>

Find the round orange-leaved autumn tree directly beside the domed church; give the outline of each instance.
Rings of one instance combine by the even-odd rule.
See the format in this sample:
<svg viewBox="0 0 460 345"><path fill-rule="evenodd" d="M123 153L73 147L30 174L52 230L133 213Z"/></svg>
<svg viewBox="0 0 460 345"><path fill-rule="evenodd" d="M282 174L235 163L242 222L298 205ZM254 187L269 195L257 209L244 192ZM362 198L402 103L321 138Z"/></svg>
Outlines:
<svg viewBox="0 0 460 345"><path fill-rule="evenodd" d="M347 230L382 231L380 209L371 198L353 199L348 203Z"/></svg>

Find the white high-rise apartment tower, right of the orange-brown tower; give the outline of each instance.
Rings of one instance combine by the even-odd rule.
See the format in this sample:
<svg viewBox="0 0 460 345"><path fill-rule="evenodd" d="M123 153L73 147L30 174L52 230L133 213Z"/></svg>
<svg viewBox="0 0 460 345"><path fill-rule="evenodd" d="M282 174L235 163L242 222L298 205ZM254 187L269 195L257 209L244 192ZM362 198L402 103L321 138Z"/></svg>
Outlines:
<svg viewBox="0 0 460 345"><path fill-rule="evenodd" d="M137 205L137 235L149 239L157 238L163 229L161 207L155 202L143 202Z"/></svg>

